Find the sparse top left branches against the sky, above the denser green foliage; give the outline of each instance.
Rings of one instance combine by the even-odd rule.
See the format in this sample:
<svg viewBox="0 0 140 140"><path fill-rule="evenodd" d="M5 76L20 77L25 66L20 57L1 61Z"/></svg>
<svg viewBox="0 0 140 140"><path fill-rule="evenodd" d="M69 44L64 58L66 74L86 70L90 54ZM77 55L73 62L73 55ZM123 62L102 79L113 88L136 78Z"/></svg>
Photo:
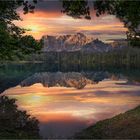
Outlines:
<svg viewBox="0 0 140 140"><path fill-rule="evenodd" d="M33 3L37 3L36 0L33 0ZM31 4L30 1L24 0L10 0L10 1L0 1L0 21L6 24L6 30L11 35L20 36L25 30L19 28L13 23L13 20L21 20L19 14L17 13L17 8L23 6L24 14L28 12L33 13L35 6Z"/></svg>

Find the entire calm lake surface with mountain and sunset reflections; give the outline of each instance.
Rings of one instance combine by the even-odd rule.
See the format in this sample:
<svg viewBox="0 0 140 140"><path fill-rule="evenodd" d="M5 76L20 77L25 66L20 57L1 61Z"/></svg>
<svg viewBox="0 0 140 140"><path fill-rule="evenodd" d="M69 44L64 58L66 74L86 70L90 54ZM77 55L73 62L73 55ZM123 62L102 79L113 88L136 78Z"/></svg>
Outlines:
<svg viewBox="0 0 140 140"><path fill-rule="evenodd" d="M41 65L0 67L1 95L40 122L44 138L66 138L140 104L140 71L51 72Z"/></svg>

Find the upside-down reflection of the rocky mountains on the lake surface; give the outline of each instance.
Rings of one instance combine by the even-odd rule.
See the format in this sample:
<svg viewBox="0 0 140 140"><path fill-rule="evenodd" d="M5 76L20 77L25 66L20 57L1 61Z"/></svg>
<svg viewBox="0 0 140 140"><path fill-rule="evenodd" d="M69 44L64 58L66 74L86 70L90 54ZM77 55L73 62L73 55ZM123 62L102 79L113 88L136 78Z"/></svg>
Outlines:
<svg viewBox="0 0 140 140"><path fill-rule="evenodd" d="M89 77L90 76L90 77ZM41 83L44 87L74 87L77 89L84 88L87 84L97 83L104 78L109 77L106 72L96 73L78 73L78 72L43 72L35 73L20 83L22 87L31 86L35 83Z"/></svg>

